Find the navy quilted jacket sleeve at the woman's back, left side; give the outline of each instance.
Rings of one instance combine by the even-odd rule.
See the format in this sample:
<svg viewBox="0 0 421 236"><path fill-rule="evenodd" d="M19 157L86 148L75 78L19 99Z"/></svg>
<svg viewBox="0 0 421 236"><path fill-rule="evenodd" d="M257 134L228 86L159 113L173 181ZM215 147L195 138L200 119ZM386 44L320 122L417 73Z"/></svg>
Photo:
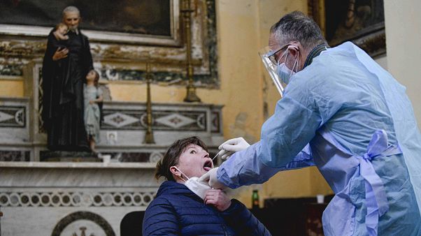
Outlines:
<svg viewBox="0 0 421 236"><path fill-rule="evenodd" d="M143 218L143 235L180 235L176 211L165 198L155 198Z"/></svg>

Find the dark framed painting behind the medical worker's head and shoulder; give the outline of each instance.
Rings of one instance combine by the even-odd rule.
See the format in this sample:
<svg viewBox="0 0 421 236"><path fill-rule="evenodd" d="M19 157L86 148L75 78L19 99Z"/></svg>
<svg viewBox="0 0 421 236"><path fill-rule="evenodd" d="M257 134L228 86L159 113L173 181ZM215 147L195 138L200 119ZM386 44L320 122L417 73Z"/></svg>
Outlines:
<svg viewBox="0 0 421 236"><path fill-rule="evenodd" d="M308 15L332 47L352 41L371 57L386 53L383 0L308 0Z"/></svg>

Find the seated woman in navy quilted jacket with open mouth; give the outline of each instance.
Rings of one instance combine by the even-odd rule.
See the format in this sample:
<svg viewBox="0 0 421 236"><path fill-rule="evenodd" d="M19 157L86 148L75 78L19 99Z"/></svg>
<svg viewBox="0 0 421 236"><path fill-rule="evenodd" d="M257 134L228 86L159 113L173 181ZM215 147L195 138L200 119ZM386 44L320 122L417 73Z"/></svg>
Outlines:
<svg viewBox="0 0 421 236"><path fill-rule="evenodd" d="M271 235L238 200L197 182L213 168L204 142L177 140L157 163L165 177L145 212L143 235Z"/></svg>

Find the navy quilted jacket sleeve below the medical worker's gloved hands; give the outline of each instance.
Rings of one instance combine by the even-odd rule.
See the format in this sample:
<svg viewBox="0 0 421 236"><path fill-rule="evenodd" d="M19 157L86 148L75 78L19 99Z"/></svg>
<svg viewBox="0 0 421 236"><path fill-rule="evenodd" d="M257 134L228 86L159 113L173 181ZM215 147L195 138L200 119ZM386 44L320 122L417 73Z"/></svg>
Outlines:
<svg viewBox="0 0 421 236"><path fill-rule="evenodd" d="M231 200L231 206L221 214L229 226L238 232L238 235L271 235L263 223L236 199Z"/></svg>

